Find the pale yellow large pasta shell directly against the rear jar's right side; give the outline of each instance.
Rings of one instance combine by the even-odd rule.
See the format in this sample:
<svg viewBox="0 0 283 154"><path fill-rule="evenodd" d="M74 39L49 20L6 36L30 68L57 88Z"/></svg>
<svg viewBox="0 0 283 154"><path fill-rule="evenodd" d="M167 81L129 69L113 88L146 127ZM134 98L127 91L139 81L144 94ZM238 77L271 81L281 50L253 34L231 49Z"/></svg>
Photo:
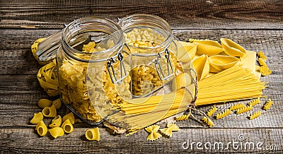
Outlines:
<svg viewBox="0 0 283 154"><path fill-rule="evenodd" d="M195 57L195 53L197 52L197 45L189 43L189 42L182 42L180 47L178 47L178 60L187 63L190 62L193 57Z"/></svg>

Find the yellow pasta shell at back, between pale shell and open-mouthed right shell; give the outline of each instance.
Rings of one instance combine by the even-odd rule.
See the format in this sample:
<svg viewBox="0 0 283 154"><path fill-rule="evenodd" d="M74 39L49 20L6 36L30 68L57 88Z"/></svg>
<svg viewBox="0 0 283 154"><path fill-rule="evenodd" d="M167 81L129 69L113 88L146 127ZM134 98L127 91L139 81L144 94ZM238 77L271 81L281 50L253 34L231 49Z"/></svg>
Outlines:
<svg viewBox="0 0 283 154"><path fill-rule="evenodd" d="M212 56L224 51L222 46L216 41L194 40L192 43L197 45L198 55L207 54L208 56Z"/></svg>

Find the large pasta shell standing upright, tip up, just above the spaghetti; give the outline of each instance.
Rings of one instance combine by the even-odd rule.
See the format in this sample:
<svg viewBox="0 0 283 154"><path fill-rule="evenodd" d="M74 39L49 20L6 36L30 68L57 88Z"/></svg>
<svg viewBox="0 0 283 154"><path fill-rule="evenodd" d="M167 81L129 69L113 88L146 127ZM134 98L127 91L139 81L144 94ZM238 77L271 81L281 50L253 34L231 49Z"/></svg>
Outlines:
<svg viewBox="0 0 283 154"><path fill-rule="evenodd" d="M200 81L204 79L209 73L209 60L207 55L202 55L197 57L192 61L191 68L195 69L197 72L197 80Z"/></svg>

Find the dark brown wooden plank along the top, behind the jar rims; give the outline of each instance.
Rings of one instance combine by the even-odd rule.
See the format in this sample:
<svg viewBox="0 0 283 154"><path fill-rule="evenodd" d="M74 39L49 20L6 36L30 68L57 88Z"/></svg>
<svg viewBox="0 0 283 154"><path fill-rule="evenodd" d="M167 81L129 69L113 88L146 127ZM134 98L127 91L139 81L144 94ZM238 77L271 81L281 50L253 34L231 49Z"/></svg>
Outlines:
<svg viewBox="0 0 283 154"><path fill-rule="evenodd" d="M63 28L86 16L160 16L172 28L282 29L282 1L1 1L0 28ZM250 24L253 22L253 24Z"/></svg>

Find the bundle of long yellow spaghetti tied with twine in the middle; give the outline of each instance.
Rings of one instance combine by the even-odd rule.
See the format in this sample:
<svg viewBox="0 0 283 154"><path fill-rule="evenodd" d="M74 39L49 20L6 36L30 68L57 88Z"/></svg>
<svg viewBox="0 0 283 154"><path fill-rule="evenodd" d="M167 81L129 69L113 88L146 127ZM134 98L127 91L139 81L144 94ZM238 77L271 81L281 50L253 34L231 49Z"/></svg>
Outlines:
<svg viewBox="0 0 283 154"><path fill-rule="evenodd" d="M199 81L195 106L261 97L264 88L265 83L256 78L250 70L233 66ZM192 93L187 88L180 88L166 95L123 100L120 105L122 112L112 114L107 119L112 124L123 126L134 133L161 119L185 111L190 102Z"/></svg>

